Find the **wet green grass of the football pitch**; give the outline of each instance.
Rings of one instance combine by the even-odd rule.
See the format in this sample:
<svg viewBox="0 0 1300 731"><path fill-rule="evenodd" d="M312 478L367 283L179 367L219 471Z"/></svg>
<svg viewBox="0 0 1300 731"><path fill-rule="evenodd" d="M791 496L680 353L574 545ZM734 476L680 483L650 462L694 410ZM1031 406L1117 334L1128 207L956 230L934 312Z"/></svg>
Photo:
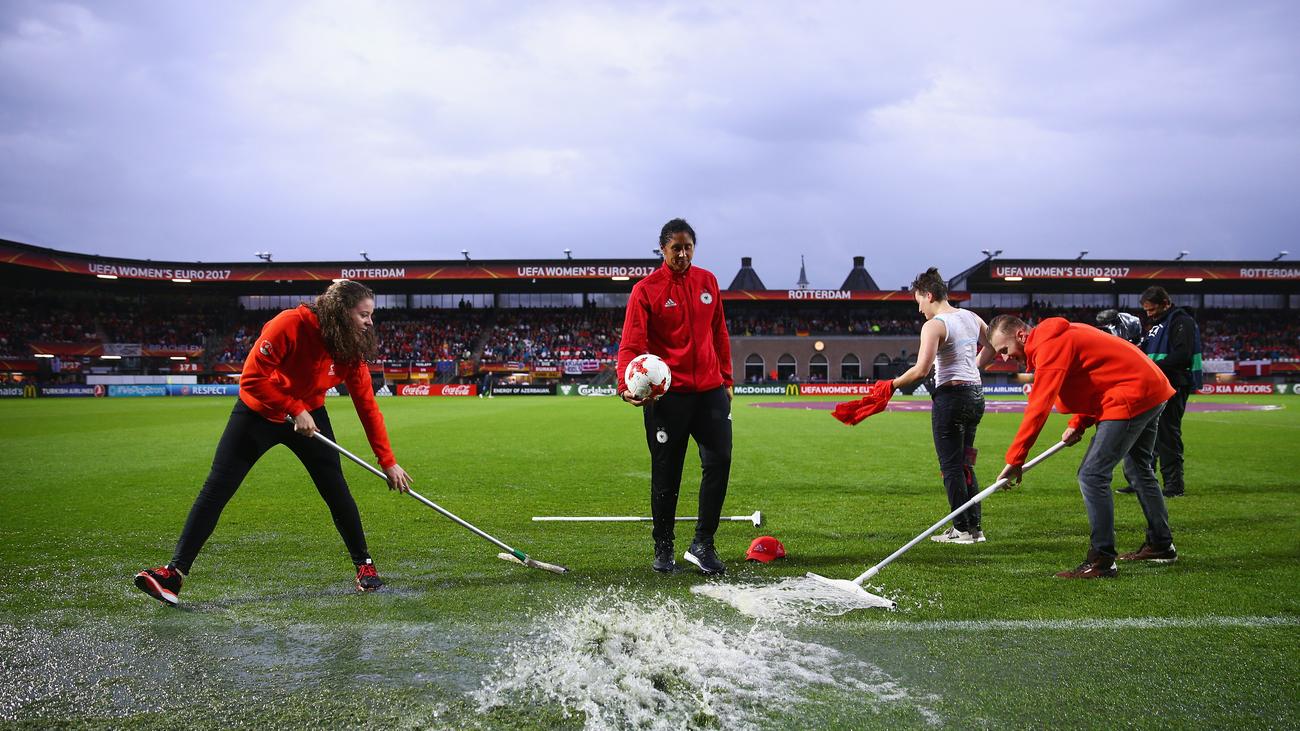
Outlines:
<svg viewBox="0 0 1300 731"><path fill-rule="evenodd" d="M798 692L758 708L750 723L1300 726L1300 398L1273 402L1286 408L1187 415L1188 497L1169 505L1176 565L1121 566L1113 581L1052 578L1087 549L1074 480L1082 447L1067 450L985 502L987 544L924 541L874 579L898 611L760 628L775 633L766 635L774 646L784 636L875 669L880 675L863 683L893 683L902 695L792 683ZM946 512L927 414L887 412L846 428L824 411L750 403L740 398L734 410L725 512L762 510L766 524L720 528L728 581L806 571L853 578ZM508 691L503 683L520 654L556 659L545 656L556 646L546 637L562 618L588 611L603 622L599 607L623 600L630 604L606 613L611 631L636 611L672 611L689 620L680 631L697 622L725 628L725 637L753 626L690 593L699 576L650 572L647 524L529 520L646 514L640 415L577 398L382 405L417 489L572 574L498 561L494 546L344 464L389 581L385 592L356 596L325 505L292 455L274 450L226 509L182 607L164 607L130 578L170 555L230 406L0 402L0 559L9 568L0 576L0 723L576 728L588 721L577 700L537 687L545 679ZM368 454L350 402L330 408L339 441ZM983 481L996 476L1018 423L984 418ZM1053 416L1037 449L1063 427ZM696 511L697 476L692 454L680 514ZM1117 496L1122 550L1138 548L1143 525L1136 501ZM685 544L689 527L679 533ZM764 533L789 557L741 563ZM607 604L593 607L593 597ZM719 657L757 653L741 640L718 643ZM716 713L728 708L725 688L610 657L624 682L660 693L647 692L649 704L715 695L682 723L734 724ZM755 671L798 671L788 665L797 658L750 657Z"/></svg>

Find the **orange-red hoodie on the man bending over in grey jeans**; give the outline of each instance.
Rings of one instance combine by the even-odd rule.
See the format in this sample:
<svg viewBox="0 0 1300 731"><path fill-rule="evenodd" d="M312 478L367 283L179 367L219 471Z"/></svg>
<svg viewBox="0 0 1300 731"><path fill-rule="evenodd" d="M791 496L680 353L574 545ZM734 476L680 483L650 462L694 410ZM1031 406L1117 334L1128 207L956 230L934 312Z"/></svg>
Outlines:
<svg viewBox="0 0 1300 731"><path fill-rule="evenodd" d="M1141 350L1092 325L1048 317L1030 330L1024 355L1034 389L1008 464L1024 464L1056 403L1074 414L1070 425L1087 429L1097 421L1132 419L1174 395L1169 379Z"/></svg>

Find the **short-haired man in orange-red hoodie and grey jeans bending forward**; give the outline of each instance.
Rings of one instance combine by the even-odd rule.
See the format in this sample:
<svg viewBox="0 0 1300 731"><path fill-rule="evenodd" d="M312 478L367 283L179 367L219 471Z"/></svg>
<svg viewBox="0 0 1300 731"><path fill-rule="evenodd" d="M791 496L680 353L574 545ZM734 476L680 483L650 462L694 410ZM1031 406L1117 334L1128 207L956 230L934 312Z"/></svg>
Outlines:
<svg viewBox="0 0 1300 731"><path fill-rule="evenodd" d="M1048 317L1030 328L1011 315L998 315L988 324L989 343L1004 359L1015 359L1034 373L1034 389L1015 441L1006 450L1006 467L998 479L1020 481L1024 458L1043 431L1052 406L1072 414L1061 441L1074 445L1083 432L1097 427L1079 466L1079 492L1088 510L1092 544L1078 568L1062 571L1062 579L1112 578L1119 561L1173 563L1178 559L1169 529L1165 496L1153 470L1156 427L1165 402L1174 395L1169 379L1134 345L1092 325ZM1147 515L1147 540L1141 548L1117 555L1115 511L1110 479L1124 460L1124 472L1136 477L1132 486Z"/></svg>

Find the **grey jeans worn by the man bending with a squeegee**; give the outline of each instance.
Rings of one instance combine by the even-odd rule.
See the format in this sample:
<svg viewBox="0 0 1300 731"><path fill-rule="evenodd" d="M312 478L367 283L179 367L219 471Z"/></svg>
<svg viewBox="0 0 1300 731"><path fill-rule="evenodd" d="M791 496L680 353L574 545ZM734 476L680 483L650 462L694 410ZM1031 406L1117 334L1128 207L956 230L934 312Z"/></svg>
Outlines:
<svg viewBox="0 0 1300 731"><path fill-rule="evenodd" d="M1127 420L1101 421L1097 433L1088 444L1088 451L1079 464L1079 492L1088 510L1088 524L1092 525L1092 550L1115 558L1115 503L1110 492L1110 480L1115 466L1124 462L1124 475L1138 490L1138 502L1147 516L1147 542L1154 549L1167 548L1174 542L1169 531L1169 512L1165 510L1165 496L1156 480L1154 450L1156 428L1161 403L1149 411Z"/></svg>

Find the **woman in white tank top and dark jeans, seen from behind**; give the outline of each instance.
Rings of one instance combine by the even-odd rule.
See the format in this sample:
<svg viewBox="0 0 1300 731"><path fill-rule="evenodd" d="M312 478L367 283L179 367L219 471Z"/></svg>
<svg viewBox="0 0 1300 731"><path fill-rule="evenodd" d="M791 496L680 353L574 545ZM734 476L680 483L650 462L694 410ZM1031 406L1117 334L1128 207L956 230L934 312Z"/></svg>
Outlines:
<svg viewBox="0 0 1300 731"><path fill-rule="evenodd" d="M980 490L975 479L975 431L984 416L984 385L979 372L996 354L988 343L984 320L948 302L948 285L939 276L939 269L931 267L918 274L911 282L911 294L916 298L916 308L926 316L926 324L920 328L916 364L894 379L894 388L916 384L933 368L930 424L948 505L957 510ZM980 518L976 503L953 518L952 528L931 536L931 540L944 544L984 542Z"/></svg>

